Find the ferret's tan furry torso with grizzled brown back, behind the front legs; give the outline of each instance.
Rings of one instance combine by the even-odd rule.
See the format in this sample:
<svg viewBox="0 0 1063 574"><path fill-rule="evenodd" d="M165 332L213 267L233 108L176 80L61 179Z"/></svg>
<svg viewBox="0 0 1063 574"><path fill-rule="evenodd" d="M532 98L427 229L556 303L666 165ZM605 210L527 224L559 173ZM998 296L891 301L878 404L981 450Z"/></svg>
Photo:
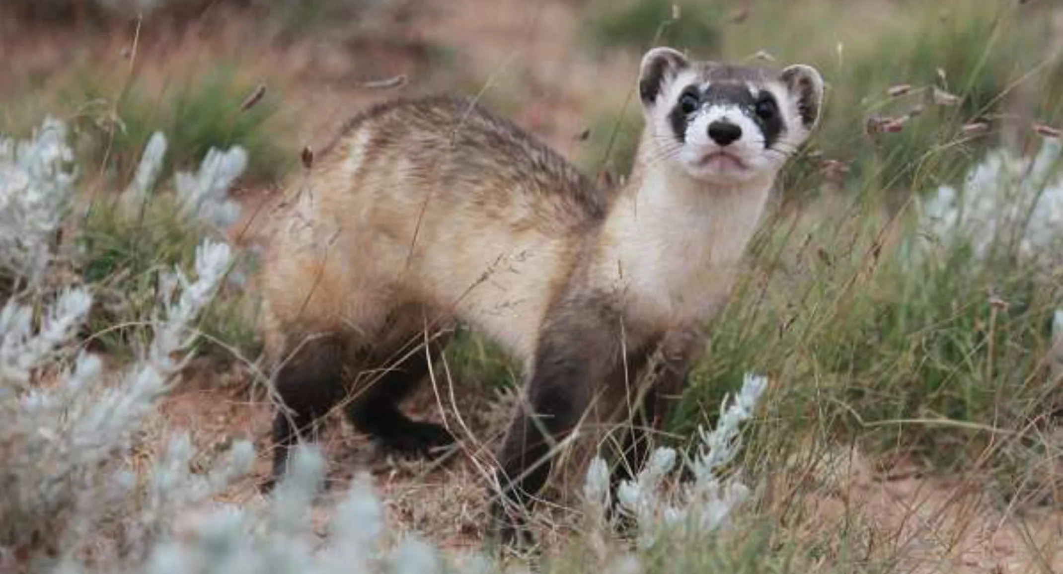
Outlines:
<svg viewBox="0 0 1063 574"><path fill-rule="evenodd" d="M604 200L559 157L493 121L450 98L372 109L292 182L264 264L272 351L306 330L375 341L388 335L389 313L418 302L425 315L414 323L461 317L532 355L588 230L576 197ZM493 141L500 133L510 149Z"/></svg>

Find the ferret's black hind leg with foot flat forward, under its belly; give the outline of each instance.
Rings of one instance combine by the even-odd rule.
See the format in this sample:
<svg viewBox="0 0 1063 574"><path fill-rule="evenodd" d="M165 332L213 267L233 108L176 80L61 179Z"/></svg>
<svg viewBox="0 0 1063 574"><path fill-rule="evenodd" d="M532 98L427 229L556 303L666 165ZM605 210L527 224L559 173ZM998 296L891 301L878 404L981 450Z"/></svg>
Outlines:
<svg viewBox="0 0 1063 574"><path fill-rule="evenodd" d="M437 340L429 349L433 358L439 356L445 341ZM409 395L428 374L428 358L423 347L403 359L400 353L392 359L398 364L383 365L378 373L366 373L365 384L359 384L348 406L351 422L362 433L381 441L385 448L406 454L431 456L445 451L454 443L454 436L440 424L415 421L399 409L399 404Z"/></svg>

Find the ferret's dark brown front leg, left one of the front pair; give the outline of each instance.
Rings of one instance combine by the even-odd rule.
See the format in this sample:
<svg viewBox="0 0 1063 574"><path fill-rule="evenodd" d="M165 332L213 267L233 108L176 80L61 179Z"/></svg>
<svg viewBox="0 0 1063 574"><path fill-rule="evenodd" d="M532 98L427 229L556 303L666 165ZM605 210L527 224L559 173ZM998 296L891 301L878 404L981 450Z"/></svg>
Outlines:
<svg viewBox="0 0 1063 574"><path fill-rule="evenodd" d="M593 306L597 303L597 310ZM604 373L619 361L618 323L611 308L576 300L544 321L525 395L500 453L502 492L492 519L505 544L525 544L522 514L550 475L552 450L579 422ZM511 512L510 510L516 510Z"/></svg>

